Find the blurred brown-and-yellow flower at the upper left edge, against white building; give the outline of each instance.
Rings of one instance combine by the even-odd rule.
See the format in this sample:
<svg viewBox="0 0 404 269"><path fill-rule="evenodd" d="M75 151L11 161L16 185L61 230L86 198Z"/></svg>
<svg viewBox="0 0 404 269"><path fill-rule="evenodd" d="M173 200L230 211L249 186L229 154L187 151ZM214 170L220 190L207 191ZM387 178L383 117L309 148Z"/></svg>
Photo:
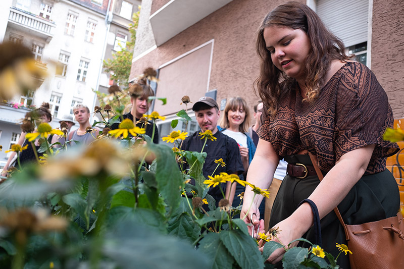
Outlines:
<svg viewBox="0 0 404 269"><path fill-rule="evenodd" d="M45 76L29 48L13 42L0 44L0 100L35 90Z"/></svg>

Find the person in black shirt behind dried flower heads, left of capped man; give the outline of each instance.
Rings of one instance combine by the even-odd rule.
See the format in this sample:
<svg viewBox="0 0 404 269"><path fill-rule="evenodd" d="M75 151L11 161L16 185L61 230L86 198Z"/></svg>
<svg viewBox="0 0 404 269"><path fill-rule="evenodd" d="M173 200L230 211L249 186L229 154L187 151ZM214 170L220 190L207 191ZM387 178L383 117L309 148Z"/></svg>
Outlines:
<svg viewBox="0 0 404 269"><path fill-rule="evenodd" d="M153 122L148 121L149 124L145 125L142 124L141 122L136 123L140 120L140 118L143 117L144 114L147 113L150 104L148 102L148 97L155 95L153 89L151 89L149 85L145 83L143 84L142 81L140 81L129 87L129 93L132 108L129 113L123 115L122 120L124 119L132 120L137 127L146 129L146 135L148 135L150 138L153 137L153 125L154 125ZM114 123L111 126L111 130L118 129L118 127L119 123ZM129 136L132 137L131 134L129 134ZM155 126L155 135L153 137L153 142L155 144L159 143L159 129L157 128L157 126Z"/></svg>

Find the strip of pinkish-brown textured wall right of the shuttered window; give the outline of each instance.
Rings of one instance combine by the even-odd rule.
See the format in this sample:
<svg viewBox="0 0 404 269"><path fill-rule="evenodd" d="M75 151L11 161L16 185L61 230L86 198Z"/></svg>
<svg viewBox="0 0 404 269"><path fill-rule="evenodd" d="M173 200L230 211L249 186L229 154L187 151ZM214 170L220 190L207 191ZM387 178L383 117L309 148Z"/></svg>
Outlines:
<svg viewBox="0 0 404 269"><path fill-rule="evenodd" d="M387 92L395 119L404 118L403 14L403 1L373 1L371 69Z"/></svg>

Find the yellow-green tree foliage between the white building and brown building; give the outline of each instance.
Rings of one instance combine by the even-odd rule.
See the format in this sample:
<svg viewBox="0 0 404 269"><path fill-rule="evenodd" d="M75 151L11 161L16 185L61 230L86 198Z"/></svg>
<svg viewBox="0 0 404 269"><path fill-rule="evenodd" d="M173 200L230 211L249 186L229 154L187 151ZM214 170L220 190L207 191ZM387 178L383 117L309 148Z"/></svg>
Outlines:
<svg viewBox="0 0 404 269"><path fill-rule="evenodd" d="M126 47L121 51L113 52L112 59L104 60L105 72L113 72L111 78L114 79L121 89L128 87L130 68L132 66L133 48L136 42L136 31L139 24L139 10L133 14L133 23L129 25L130 41L126 42Z"/></svg>

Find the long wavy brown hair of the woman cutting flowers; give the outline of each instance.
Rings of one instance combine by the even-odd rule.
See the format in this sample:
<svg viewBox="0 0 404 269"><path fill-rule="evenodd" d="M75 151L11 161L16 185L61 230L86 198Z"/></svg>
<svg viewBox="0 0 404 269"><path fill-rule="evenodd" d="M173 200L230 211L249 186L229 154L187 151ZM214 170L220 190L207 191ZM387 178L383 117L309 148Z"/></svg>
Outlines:
<svg viewBox="0 0 404 269"><path fill-rule="evenodd" d="M261 68L260 76L254 83L254 91L258 89L261 99L268 107L268 113L274 115L279 97L296 88L297 82L272 63L271 53L267 50L264 39L264 29L269 26L300 29L306 32L310 39L311 49L305 61L307 97L304 100L306 101L311 102L318 97L332 60L345 61L352 56L346 55L341 39L332 34L308 6L291 1L268 13L257 34L256 50L261 59Z"/></svg>

